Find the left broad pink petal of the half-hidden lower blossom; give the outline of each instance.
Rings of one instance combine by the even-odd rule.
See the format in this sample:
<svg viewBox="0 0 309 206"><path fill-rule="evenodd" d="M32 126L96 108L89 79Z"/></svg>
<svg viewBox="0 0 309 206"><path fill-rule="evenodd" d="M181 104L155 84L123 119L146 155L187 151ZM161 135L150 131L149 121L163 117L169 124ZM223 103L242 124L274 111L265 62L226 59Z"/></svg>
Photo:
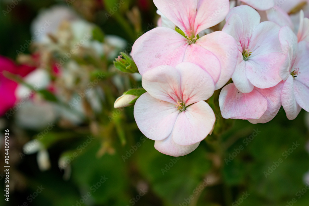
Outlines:
<svg viewBox="0 0 309 206"><path fill-rule="evenodd" d="M223 87L219 105L225 119L260 119L267 110L267 100L260 92L241 93L234 83Z"/></svg>

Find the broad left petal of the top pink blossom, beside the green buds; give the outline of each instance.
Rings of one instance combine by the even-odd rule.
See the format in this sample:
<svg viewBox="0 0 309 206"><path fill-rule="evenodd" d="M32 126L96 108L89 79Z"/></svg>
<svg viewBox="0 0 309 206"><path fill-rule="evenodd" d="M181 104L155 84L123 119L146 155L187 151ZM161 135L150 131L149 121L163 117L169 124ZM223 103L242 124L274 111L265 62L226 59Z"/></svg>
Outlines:
<svg viewBox="0 0 309 206"><path fill-rule="evenodd" d="M187 40L165 27L154 28L138 38L132 47L132 57L140 74L159 65L176 66L184 59Z"/></svg>

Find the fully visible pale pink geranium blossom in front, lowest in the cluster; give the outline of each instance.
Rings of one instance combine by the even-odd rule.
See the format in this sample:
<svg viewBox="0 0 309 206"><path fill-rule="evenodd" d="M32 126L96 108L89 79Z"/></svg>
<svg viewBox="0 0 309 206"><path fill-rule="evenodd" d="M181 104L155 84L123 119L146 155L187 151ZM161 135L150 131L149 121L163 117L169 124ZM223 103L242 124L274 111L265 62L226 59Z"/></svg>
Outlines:
<svg viewBox="0 0 309 206"><path fill-rule="evenodd" d="M215 115L204 100L213 95L214 81L198 65L158 66L143 75L142 85L147 92L136 101L134 117L161 153L186 155L212 131Z"/></svg>

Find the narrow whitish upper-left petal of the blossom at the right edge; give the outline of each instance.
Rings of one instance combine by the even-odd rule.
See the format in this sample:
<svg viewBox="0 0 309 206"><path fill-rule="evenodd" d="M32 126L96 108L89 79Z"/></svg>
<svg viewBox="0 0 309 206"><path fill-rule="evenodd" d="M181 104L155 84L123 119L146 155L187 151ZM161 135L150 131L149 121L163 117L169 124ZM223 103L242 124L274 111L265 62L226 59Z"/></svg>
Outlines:
<svg viewBox="0 0 309 206"><path fill-rule="evenodd" d="M285 81L290 76L290 69L297 55L297 37L290 27L284 26L279 31L279 40L282 52L288 56L285 61L286 65L279 70L280 78Z"/></svg>

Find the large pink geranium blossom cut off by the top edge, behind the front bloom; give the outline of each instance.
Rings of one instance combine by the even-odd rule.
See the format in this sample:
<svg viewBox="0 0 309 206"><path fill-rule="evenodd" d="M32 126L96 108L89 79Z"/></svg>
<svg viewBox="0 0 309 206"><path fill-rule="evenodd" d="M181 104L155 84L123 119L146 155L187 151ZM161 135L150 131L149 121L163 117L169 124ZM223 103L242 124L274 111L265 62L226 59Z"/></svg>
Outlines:
<svg viewBox="0 0 309 206"><path fill-rule="evenodd" d="M235 40L218 31L198 38L197 34L224 20L229 10L227 0L154 0L159 11L184 32L166 27L155 28L133 45L132 57L140 74L159 65L176 66L192 62L207 71L219 89L231 78L238 52Z"/></svg>

